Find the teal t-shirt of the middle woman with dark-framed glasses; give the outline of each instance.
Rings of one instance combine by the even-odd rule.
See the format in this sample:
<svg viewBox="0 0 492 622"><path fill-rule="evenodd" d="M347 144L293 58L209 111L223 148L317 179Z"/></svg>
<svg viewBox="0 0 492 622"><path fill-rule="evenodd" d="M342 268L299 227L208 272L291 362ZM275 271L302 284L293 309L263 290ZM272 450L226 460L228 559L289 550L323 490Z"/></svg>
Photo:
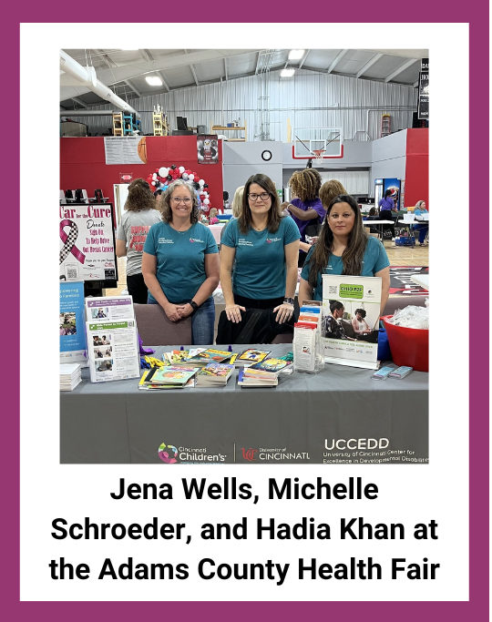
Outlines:
<svg viewBox="0 0 492 622"><path fill-rule="evenodd" d="M299 229L290 216L277 229L241 233L239 220L230 220L221 243L236 250L232 291L245 298L267 300L285 295L284 246L299 240Z"/></svg>

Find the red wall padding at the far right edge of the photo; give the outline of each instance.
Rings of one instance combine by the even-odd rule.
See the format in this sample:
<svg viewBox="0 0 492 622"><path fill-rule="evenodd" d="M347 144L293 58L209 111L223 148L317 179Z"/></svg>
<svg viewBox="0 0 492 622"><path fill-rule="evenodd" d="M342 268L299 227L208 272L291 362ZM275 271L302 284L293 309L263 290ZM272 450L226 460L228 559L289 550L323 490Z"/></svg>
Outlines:
<svg viewBox="0 0 492 622"><path fill-rule="evenodd" d="M429 130L406 130L405 206L424 200L429 206Z"/></svg>

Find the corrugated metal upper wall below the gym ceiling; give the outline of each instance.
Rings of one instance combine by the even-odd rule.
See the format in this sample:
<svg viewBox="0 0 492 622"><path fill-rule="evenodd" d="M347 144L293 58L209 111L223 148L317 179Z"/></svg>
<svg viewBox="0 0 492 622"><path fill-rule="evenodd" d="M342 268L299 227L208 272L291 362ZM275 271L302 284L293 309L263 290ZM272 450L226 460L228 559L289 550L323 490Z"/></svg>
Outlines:
<svg viewBox="0 0 492 622"><path fill-rule="evenodd" d="M391 115L392 131L412 127L416 109L416 91L412 87L385 84L353 77L298 71L293 78L270 74L268 107L270 138L287 142L287 119L292 127L343 127L343 140L380 138L381 116ZM264 93L264 90L263 90ZM248 140L261 131L261 76L238 79L171 91L152 97L129 99L141 113L144 134L152 134L153 107L160 104L167 112L171 127L176 117L188 118L188 125L231 123L238 117L248 122ZM264 101L264 100L263 100ZM94 109L111 109L108 105ZM94 136L108 131L109 117L77 117ZM236 135L232 132L231 137ZM239 136L239 135L237 135Z"/></svg>

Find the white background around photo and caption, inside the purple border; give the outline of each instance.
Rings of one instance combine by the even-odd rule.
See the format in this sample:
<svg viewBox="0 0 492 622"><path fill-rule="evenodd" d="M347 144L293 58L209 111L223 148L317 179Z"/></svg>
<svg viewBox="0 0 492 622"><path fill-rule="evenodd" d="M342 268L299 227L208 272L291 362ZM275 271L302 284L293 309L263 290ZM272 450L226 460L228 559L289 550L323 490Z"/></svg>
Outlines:
<svg viewBox="0 0 492 622"><path fill-rule="evenodd" d="M59 189L59 48L120 48L128 45L146 48L180 49L203 47L203 33L213 28L214 48L263 48L290 46L322 47L327 26L302 25L84 25L43 24L21 27L21 118L41 119L23 123L21 128L21 179L36 175L36 200L25 191L21 200L21 222L29 231L30 243L21 253L21 326L43 330L22 331L22 352L36 353L36 369L29 374L21 395L21 598L23 600L466 600L468 597L468 415L467 331L449 331L449 297L459 284L460 308L467 308L468 297L468 26L463 24L395 25L401 48L429 48L431 73L430 195L433 214L446 214L446 222L458 229L450 241L446 225L432 229L430 247L432 332L430 357L430 464L428 465L304 465L261 466L226 465L204 468L155 465L60 465L58 339L55 323L58 307L58 219L56 203ZM374 46L374 32L384 25L330 25L329 45L347 46L347 35L360 48ZM304 33L304 34L302 34ZM247 42L247 44L245 43ZM450 94L459 92L459 101ZM456 124L459 117L459 124ZM36 171L36 173L34 173ZM456 192L456 174L459 189ZM23 183L23 182L21 182ZM97 179L94 180L94 187ZM26 183L24 182L26 189ZM444 222L444 221L443 221ZM431 225L432 226L432 225ZM26 233L23 233L26 236ZM33 279L36 275L45 277ZM39 364L39 361L42 363ZM458 364L454 364L458 362ZM26 369L26 367L24 367ZM128 381L136 382L136 381ZM405 381L401 381L405 382ZM238 399L241 399L241 395ZM398 404L395 403L395 408ZM97 410L97 403L94 403ZM329 431L327 430L327 433ZM161 439L156 439L158 444ZM323 439L322 439L323 442ZM157 451L157 446L156 446ZM248 482L258 505L248 501L185 501L181 477L206 477L208 483L223 482L235 476ZM349 476L362 476L364 484L375 483L375 501L268 501L268 477L301 478L315 482L317 476L330 484L346 483ZM142 484L173 484L174 501L114 501L110 492L118 481ZM62 540L51 537L51 523L63 517L68 523L83 522L89 516L96 523L145 524L157 516L159 523L186 523L192 535L190 546L179 541ZM202 523L239 522L250 519L247 541L200 540ZM333 539L328 541L256 540L257 516L274 517L293 524L302 516L316 523L329 523ZM405 541L344 540L337 537L340 517L363 516L367 522L403 523ZM417 541L413 525L438 524L438 540ZM85 581L54 581L48 563L64 556L74 565L86 563L91 576ZM190 567L184 581L97 580L106 557L115 566L132 556L134 564L179 563ZM297 560L318 565L349 563L350 557L367 559L383 566L380 581L313 581L297 578ZM282 586L275 581L238 581L218 578L201 580L197 573L200 559L210 557L222 563L290 563ZM406 562L438 563L436 580L410 581L401 576L391 579L392 557ZM403 574L402 574L403 575Z"/></svg>

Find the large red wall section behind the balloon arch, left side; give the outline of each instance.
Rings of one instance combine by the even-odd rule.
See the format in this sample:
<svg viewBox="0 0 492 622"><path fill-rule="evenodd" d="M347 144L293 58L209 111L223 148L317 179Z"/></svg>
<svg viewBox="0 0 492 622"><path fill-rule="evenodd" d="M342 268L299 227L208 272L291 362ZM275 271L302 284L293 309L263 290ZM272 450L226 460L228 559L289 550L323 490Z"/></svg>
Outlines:
<svg viewBox="0 0 492 622"><path fill-rule="evenodd" d="M104 138L60 138L60 189L87 190L89 197L100 188L103 196L114 203L113 184L119 183L119 173L133 173L133 178L146 179L159 167L190 168L209 184L210 205L222 205L222 141L219 141L219 164L199 164L196 136L148 136L147 164L107 165Z"/></svg>

